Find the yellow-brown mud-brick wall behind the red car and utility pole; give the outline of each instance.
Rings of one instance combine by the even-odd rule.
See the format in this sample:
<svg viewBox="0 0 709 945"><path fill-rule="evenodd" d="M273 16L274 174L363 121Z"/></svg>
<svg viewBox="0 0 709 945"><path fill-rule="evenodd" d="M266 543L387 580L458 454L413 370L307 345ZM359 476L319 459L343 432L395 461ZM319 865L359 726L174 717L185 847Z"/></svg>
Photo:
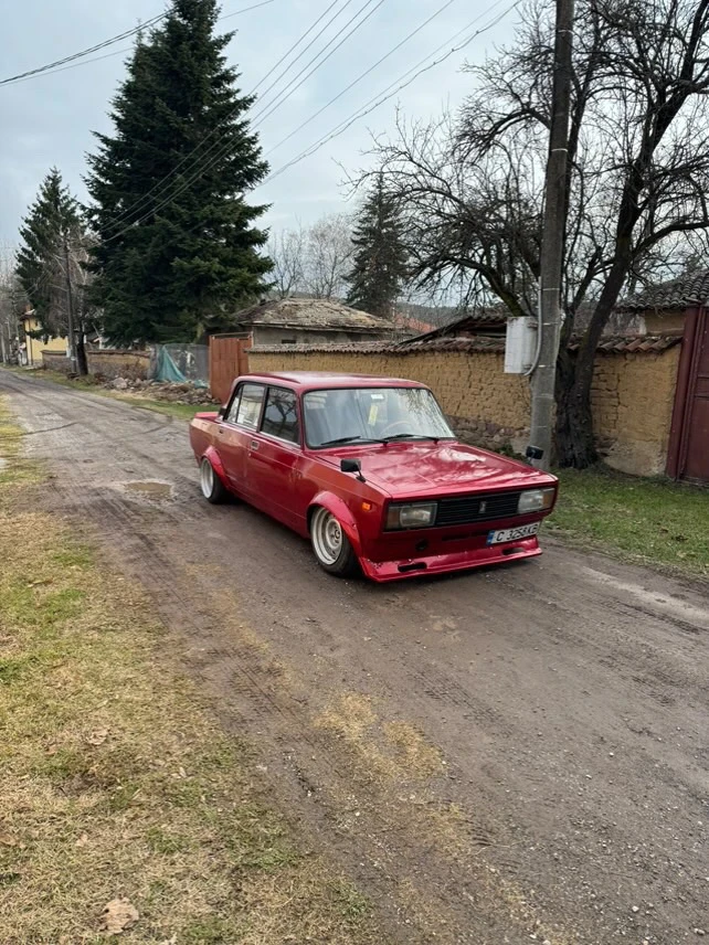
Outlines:
<svg viewBox="0 0 709 945"><path fill-rule="evenodd" d="M421 381L435 393L462 439L522 453L529 383L505 374L504 355L469 351L250 352L251 371L340 371ZM606 461L634 475L665 471L679 346L662 353L600 353L593 385L594 425Z"/></svg>

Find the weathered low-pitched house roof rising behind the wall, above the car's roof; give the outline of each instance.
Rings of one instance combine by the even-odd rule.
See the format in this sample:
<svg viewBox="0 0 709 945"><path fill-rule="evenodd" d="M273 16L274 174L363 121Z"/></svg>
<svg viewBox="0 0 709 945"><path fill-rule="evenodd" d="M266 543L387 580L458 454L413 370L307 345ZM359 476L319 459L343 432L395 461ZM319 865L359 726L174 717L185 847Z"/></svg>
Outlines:
<svg viewBox="0 0 709 945"><path fill-rule="evenodd" d="M262 325L274 328L310 329L316 331L362 331L391 333L392 326L341 301L325 298L267 299L236 312L235 326L251 328Z"/></svg>

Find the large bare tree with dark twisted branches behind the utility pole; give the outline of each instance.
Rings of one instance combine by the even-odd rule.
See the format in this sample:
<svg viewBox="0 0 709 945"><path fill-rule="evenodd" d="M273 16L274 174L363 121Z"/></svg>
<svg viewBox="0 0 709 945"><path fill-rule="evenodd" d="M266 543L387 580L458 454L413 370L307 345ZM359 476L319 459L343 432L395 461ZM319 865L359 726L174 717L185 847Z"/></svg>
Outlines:
<svg viewBox="0 0 709 945"><path fill-rule="evenodd" d="M708 26L709 0L578 3L557 379L562 465L596 458L593 364L620 295L705 249ZM552 46L549 4L531 0L515 43L469 67L477 92L455 119L400 120L393 140L377 142L374 173L381 168L400 202L421 285L467 277L470 299L536 311ZM581 310L572 355L565 342Z"/></svg>

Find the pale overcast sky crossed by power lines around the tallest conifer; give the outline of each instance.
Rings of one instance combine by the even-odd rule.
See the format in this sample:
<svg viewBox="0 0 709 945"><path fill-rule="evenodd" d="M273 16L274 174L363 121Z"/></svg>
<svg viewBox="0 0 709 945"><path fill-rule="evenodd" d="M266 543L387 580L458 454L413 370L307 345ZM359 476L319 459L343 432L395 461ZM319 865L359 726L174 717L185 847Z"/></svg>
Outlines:
<svg viewBox="0 0 709 945"><path fill-rule="evenodd" d="M330 4L331 0L273 0L240 15L230 14L258 0L223 0L220 28L237 30L229 47L230 61L242 73L244 91L251 89ZM350 0L318 43L288 76L263 99L266 105L363 4ZM370 98L403 76L420 60L428 59L442 43L479 21L462 34L478 29L502 12L507 0L451 0L449 6L416 36L393 53L370 75L306 128L276 148L292 130L306 121L352 79L373 65L420 23L443 7L445 0L382 0L379 9L273 116L258 128L272 169L277 170L305 148L329 132ZM345 6L340 0L337 9ZM0 0L1 78L62 59L131 29L162 12L161 0ZM375 7L374 0L362 15ZM326 20L324 22L326 22ZM324 213L348 209L341 188L342 171L366 163L372 131L391 129L396 104L411 117L434 116L449 104L457 106L470 88L470 76L461 71L467 59L479 62L495 44L504 43L514 30L516 13L475 39L464 52L419 77L413 85L356 123L316 155L287 170L256 192L260 202L272 203L266 225L274 230L311 223ZM321 24L320 24L321 25ZM318 26L319 29L319 26ZM308 36L309 41L317 30ZM341 39L341 38L340 38ZM306 41L306 42L307 42ZM459 42L459 40L458 40ZM85 153L91 150L92 130L110 132L106 110L125 72L126 42L104 52L109 57L0 87L0 244L18 242L18 225L38 185L52 164L62 171L72 190L84 198L82 174ZM129 44L128 44L129 45ZM300 49L300 47L299 47ZM298 51L299 51L298 49ZM100 55L100 54L96 54ZM277 73L274 74L275 77ZM272 77L272 79L273 79ZM269 79L262 86L265 89ZM399 83L396 83L399 84ZM256 105L256 109L262 104ZM256 198L254 198L256 199Z"/></svg>

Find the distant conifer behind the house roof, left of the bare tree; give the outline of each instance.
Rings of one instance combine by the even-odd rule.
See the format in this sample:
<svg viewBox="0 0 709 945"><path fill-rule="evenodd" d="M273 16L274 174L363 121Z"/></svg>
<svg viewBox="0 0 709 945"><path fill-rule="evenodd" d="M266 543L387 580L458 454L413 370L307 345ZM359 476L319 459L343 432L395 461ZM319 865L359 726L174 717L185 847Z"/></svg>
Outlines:
<svg viewBox="0 0 709 945"><path fill-rule="evenodd" d="M406 276L406 249L396 209L384 193L379 174L358 214L352 235L353 266L347 301L370 315L393 319L394 305Z"/></svg>

